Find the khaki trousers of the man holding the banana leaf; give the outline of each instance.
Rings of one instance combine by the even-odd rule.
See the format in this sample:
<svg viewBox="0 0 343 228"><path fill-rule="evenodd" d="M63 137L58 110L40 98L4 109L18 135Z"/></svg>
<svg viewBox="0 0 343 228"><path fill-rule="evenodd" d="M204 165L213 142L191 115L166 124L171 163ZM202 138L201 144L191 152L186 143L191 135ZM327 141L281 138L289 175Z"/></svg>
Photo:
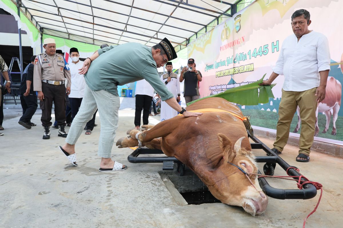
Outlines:
<svg viewBox="0 0 343 228"><path fill-rule="evenodd" d="M310 154L310 148L315 135L317 88L294 92L282 90L279 106L279 121L276 125L276 140L274 148L282 151L289 137L289 128L297 106L300 109L301 132L299 142L299 153Z"/></svg>

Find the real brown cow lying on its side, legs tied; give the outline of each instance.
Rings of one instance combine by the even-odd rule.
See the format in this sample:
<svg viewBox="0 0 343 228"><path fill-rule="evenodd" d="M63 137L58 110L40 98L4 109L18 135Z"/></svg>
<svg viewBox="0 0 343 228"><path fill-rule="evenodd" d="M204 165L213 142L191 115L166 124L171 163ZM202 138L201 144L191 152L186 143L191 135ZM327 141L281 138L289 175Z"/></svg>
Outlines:
<svg viewBox="0 0 343 228"><path fill-rule="evenodd" d="M257 176L248 178L231 162L248 173L257 173L254 156L241 110L223 98L211 97L187 107L221 109L229 112L204 112L198 117L176 116L158 123L141 133L130 130L129 137L120 138L117 146L137 146L138 134L143 146L161 149L187 165L208 186L212 195L221 202L241 206L251 215L263 213L268 198L259 186ZM236 115L236 116L235 116ZM239 116L240 118L237 118ZM162 137L162 138L159 138Z"/></svg>

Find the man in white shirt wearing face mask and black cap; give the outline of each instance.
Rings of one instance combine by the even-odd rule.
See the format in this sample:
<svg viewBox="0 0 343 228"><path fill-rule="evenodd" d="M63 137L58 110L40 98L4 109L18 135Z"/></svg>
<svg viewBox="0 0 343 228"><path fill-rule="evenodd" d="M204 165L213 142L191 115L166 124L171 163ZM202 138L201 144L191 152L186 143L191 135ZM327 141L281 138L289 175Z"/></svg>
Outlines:
<svg viewBox="0 0 343 228"><path fill-rule="evenodd" d="M83 66L83 61L80 61L79 59L79 50L77 48L71 48L69 56L72 59L71 64L69 64L72 90L69 94L69 101L71 107L71 120L73 121L81 106L86 82L84 76L79 74L79 69L81 69ZM88 123L86 124L86 135L90 135L92 133L93 128L87 128L91 121L92 120L88 121Z"/></svg>

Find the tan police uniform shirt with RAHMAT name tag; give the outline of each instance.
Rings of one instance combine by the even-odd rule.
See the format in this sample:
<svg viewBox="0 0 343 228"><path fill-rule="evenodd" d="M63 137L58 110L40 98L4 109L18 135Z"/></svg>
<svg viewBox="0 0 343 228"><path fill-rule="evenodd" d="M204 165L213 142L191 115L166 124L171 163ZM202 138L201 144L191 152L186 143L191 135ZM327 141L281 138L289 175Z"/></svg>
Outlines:
<svg viewBox="0 0 343 228"><path fill-rule="evenodd" d="M42 91L42 80L65 81L68 79L67 87L70 87L70 70L65 67L64 58L60 54L55 53L52 56L46 54L46 52L39 54L35 58L34 65L34 91Z"/></svg>

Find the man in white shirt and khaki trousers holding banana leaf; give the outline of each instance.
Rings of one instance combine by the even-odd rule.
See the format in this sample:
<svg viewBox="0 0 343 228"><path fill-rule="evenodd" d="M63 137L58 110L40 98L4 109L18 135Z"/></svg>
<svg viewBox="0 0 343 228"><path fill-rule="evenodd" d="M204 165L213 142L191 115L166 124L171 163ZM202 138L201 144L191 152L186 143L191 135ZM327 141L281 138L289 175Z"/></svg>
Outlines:
<svg viewBox="0 0 343 228"><path fill-rule="evenodd" d="M297 10L291 18L294 35L284 40L271 76L261 84L270 85L277 76L285 76L272 150L280 154L287 144L289 128L299 106L301 133L296 161L308 162L315 134L316 109L318 102L325 98L330 70L329 42L323 34L308 30L311 20L307 10Z"/></svg>

